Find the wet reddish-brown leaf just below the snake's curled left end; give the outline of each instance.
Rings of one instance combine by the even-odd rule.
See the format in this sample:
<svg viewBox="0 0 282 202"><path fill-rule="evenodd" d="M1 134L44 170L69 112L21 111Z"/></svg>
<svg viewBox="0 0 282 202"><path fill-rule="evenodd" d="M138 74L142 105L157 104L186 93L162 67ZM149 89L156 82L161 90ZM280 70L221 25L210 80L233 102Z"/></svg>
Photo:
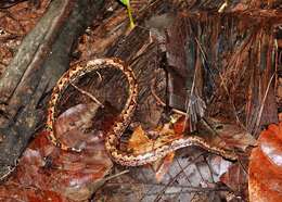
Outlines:
<svg viewBox="0 0 282 202"><path fill-rule="evenodd" d="M43 142L37 140L42 138L46 138L44 134L37 137L36 141ZM22 186L54 191L72 200L86 200L113 165L102 139L92 142L92 147L81 153L53 148L48 156L41 155L48 147L46 144L44 148L25 151L15 176Z"/></svg>

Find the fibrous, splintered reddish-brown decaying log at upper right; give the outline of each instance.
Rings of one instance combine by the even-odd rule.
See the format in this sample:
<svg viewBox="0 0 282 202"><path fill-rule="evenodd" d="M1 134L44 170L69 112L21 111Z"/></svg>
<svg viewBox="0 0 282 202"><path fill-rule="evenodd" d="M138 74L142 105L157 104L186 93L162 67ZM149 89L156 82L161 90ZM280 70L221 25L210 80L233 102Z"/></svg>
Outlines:
<svg viewBox="0 0 282 202"><path fill-rule="evenodd" d="M181 108L178 101L189 96L184 89L195 86L211 116L236 122L252 134L277 123L273 55L279 15L179 14L168 29L167 60L172 73L184 79L168 81L175 87L169 104Z"/></svg>

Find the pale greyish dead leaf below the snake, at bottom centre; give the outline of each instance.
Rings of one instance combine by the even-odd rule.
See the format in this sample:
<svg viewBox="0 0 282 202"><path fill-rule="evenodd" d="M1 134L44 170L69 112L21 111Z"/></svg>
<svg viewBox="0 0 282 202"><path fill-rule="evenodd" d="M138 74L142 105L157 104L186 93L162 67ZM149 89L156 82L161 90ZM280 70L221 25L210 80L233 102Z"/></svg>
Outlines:
<svg viewBox="0 0 282 202"><path fill-rule="evenodd" d="M210 155L210 161L205 161L203 151L184 150L190 157L177 157L162 181L156 180L152 166L141 166L130 169L129 175L110 180L95 193L97 201L193 201L196 194L206 195L208 201L220 201L218 189L225 192L228 189L216 184L219 175L210 165L219 156Z"/></svg>

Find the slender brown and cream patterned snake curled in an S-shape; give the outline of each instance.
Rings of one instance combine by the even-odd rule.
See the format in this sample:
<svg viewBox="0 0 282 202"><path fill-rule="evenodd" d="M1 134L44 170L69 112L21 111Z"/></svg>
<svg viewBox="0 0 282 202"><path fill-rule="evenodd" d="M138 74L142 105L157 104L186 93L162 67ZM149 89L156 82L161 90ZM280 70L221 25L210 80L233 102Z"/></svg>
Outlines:
<svg viewBox="0 0 282 202"><path fill-rule="evenodd" d="M131 122L134 111L138 105L138 81L132 68L127 65L124 61L117 58L101 58L93 59L86 62L85 65L76 65L70 67L65 72L62 77L56 83L53 91L51 93L51 99L48 106L48 117L47 117L47 130L49 131L49 139L56 147L65 151L80 152L81 149L68 147L63 142L60 142L55 136L55 121L57 116L57 105L62 98L65 89L72 83L81 78L81 76L87 73L99 71L102 68L115 68L121 71L128 83L128 96L126 103L119 113L118 117L115 119L113 126L107 131L105 136L105 149L110 154L111 159L117 164L124 166L140 166L155 162L158 159L166 156L168 153L174 152L180 148L185 148L190 146L196 146L203 148L211 153L221 155L225 159L235 161L236 155L234 152L227 151L217 146L210 146L206 140L197 136L189 136L179 139L175 139L170 142L164 143L156 149L146 151L141 154L133 154L130 152L125 152L119 149L119 140Z"/></svg>

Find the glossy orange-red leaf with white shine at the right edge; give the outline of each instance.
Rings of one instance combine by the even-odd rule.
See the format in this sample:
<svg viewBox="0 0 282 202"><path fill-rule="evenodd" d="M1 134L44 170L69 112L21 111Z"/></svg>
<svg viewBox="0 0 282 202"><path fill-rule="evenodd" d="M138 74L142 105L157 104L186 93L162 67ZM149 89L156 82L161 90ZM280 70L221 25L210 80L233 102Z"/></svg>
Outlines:
<svg viewBox="0 0 282 202"><path fill-rule="evenodd" d="M278 202L282 199L282 123L261 131L248 167L251 202Z"/></svg>

